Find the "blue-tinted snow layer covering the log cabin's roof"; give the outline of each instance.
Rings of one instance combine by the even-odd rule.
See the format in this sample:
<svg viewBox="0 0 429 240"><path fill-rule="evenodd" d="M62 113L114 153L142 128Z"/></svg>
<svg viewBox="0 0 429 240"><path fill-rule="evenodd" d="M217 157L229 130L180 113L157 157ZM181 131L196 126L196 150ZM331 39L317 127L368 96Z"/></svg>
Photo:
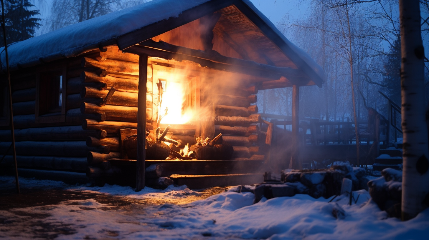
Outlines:
<svg viewBox="0 0 429 240"><path fill-rule="evenodd" d="M177 18L186 10L210 2L221 1L152 0L128 9L91 18L50 33L12 43L8 46L9 65L14 70L20 67L36 66L60 58L74 57L85 51L115 44L116 39L127 33L132 33L165 19ZM272 31L281 37L296 56L302 59L321 80L324 79L323 69L308 54L293 45L249 0L233 0L231 2L232 4L240 2L247 5ZM146 39L136 39L135 44L144 40ZM0 60L5 66L6 60L3 50L3 48L0 49Z"/></svg>

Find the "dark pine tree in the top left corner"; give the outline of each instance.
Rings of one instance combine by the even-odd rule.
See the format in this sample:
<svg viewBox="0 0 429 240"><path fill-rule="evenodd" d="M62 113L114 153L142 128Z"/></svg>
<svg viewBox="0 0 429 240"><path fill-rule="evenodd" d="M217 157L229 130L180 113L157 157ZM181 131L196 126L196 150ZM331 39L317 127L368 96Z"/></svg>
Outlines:
<svg viewBox="0 0 429 240"><path fill-rule="evenodd" d="M8 44L29 39L40 27L39 10L29 10L34 5L28 0L4 0L6 41ZM0 33L0 46L4 46L3 32Z"/></svg>

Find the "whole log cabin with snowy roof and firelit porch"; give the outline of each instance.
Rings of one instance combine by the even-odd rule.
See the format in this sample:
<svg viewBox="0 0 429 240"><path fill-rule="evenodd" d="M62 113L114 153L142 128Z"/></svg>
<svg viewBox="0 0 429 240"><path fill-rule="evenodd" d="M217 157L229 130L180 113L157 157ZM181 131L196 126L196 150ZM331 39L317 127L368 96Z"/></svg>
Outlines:
<svg viewBox="0 0 429 240"><path fill-rule="evenodd" d="M258 90L293 87L297 144L299 87L321 87L324 78L248 0L154 0L8 51L20 176L138 190L262 182L272 124L258 114ZM0 155L7 173L14 165L3 51L1 62ZM160 133L170 155L146 159ZM219 134L232 156L190 155L196 138Z"/></svg>

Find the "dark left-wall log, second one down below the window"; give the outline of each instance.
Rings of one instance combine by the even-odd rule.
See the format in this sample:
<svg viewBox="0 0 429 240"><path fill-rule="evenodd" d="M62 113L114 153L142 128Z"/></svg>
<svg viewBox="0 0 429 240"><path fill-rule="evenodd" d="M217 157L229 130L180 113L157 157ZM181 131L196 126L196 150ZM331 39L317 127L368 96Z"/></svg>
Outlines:
<svg viewBox="0 0 429 240"><path fill-rule="evenodd" d="M10 142L0 142L0 155L6 153ZM86 156L88 151L97 151L88 147L85 141L22 141L15 143L16 153L23 156ZM7 154L12 154L9 150Z"/></svg>

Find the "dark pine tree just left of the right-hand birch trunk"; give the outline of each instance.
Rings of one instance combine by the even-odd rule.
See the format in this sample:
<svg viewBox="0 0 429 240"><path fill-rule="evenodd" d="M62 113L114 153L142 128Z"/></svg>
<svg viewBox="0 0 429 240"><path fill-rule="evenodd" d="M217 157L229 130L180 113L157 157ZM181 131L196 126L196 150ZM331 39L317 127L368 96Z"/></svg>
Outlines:
<svg viewBox="0 0 429 240"><path fill-rule="evenodd" d="M389 55L384 63L383 85L387 88L387 96L396 104L401 105L401 39L390 46Z"/></svg>

